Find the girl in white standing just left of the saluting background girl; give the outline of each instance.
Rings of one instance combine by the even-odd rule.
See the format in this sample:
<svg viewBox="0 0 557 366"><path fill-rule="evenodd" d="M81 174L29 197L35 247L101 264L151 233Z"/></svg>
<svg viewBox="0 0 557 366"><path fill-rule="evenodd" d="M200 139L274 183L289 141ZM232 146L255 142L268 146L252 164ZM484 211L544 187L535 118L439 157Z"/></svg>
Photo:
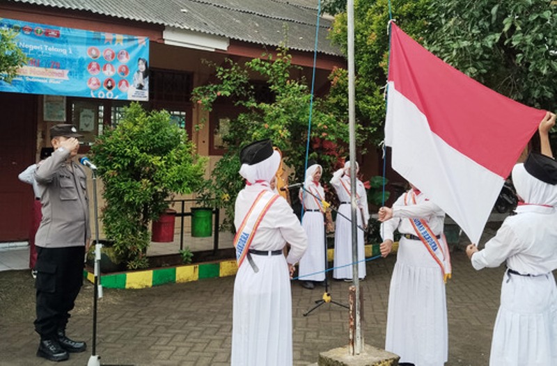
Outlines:
<svg viewBox="0 0 557 366"><path fill-rule="evenodd" d="M301 285L306 289L315 288L315 281L320 282L325 279L324 212L326 209L322 205L322 201L325 199L325 192L320 183L322 171L322 167L315 162L308 166L306 182L304 182L306 191L300 189L299 193L304 207L301 225L308 234L308 250L301 257L298 276L301 277Z"/></svg>

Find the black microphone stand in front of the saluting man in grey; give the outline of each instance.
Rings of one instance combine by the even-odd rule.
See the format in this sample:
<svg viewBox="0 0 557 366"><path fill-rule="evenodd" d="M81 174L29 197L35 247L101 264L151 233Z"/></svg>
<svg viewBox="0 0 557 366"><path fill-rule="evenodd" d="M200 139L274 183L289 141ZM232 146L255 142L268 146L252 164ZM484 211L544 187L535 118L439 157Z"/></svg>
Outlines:
<svg viewBox="0 0 557 366"><path fill-rule="evenodd" d="M93 346L91 347L91 357L87 366L100 366L100 356L97 351L97 301L102 298L102 285L100 285L100 257L102 244L99 244L99 219L97 214L97 171L91 169L93 172L93 204L95 211L95 280L94 280L94 299L93 299Z"/></svg>

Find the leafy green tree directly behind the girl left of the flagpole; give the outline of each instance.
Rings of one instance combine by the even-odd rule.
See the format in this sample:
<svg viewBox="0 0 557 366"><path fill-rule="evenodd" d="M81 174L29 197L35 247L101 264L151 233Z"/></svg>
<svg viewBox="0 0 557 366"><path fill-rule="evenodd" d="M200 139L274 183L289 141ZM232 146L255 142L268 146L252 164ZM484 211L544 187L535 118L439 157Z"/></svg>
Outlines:
<svg viewBox="0 0 557 366"><path fill-rule="evenodd" d="M243 111L230 121L230 129L223 136L228 151L217 162L212 172L213 184L207 187L214 193L218 207L224 207L226 216L232 218L235 197L244 186L238 175L239 152L248 143L271 138L281 150L284 164L295 170L291 180L304 180L311 93L303 79L290 76L294 66L285 48L279 48L275 57L264 54L244 65L226 60L223 65L212 66L214 82L195 88L192 100L210 111L217 99L228 99ZM265 82L269 92L266 100L255 93L250 76ZM332 167L347 152L343 143L348 141L347 121L318 97L313 99L311 116L308 159ZM361 144L366 136L359 135Z"/></svg>

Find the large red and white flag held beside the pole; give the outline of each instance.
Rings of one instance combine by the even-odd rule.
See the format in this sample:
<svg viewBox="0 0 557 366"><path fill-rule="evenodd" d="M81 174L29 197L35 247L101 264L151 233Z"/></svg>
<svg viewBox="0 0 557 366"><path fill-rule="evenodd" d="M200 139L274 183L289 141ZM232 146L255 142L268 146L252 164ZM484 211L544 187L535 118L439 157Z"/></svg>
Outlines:
<svg viewBox="0 0 557 366"><path fill-rule="evenodd" d="M391 32L385 143L393 169L478 244L545 112L467 77L394 23Z"/></svg>

